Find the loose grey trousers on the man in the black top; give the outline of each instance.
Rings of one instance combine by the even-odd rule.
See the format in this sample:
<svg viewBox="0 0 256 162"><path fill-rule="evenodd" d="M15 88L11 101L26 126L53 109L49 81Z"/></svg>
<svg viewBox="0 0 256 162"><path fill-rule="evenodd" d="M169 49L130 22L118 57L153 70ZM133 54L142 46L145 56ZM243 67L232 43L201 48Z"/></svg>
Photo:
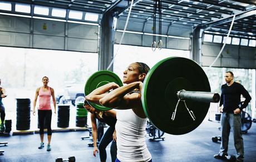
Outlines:
<svg viewBox="0 0 256 162"><path fill-rule="evenodd" d="M242 137L242 116L241 114L225 113L221 114L221 144L219 155L228 155L228 142L230 129L232 129L237 159L244 159L244 142Z"/></svg>

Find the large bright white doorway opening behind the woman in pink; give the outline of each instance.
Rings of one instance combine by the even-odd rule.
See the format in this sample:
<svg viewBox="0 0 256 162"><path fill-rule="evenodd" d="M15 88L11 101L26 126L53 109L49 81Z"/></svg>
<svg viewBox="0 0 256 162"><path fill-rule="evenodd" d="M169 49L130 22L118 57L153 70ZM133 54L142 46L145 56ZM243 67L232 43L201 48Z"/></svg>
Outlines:
<svg viewBox="0 0 256 162"><path fill-rule="evenodd" d="M49 78L48 85L57 96L66 85L85 84L98 69L97 53L11 47L0 50L0 78L8 93L3 99L7 111L16 111L15 98L29 98L33 102L43 76Z"/></svg>

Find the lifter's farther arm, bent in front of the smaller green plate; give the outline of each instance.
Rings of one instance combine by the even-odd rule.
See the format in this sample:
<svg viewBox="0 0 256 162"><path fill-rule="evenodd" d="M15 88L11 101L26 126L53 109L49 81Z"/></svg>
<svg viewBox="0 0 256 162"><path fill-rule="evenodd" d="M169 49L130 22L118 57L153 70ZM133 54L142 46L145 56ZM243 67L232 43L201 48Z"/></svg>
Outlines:
<svg viewBox="0 0 256 162"><path fill-rule="evenodd" d="M99 100L105 97L105 95L107 94L107 92L109 92L109 90L116 89L118 87L119 85L117 85L114 82L102 85L101 87L93 90L90 94L86 95L86 100L88 102L100 104Z"/></svg>

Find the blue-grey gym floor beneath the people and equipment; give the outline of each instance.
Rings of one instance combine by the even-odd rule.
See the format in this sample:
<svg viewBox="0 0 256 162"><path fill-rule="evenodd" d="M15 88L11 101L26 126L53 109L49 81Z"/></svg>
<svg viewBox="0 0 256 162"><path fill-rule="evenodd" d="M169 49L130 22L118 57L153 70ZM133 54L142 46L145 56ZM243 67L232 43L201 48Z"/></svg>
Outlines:
<svg viewBox="0 0 256 162"><path fill-rule="evenodd" d="M213 158L218 153L220 143L213 143L212 136L220 135L220 123L204 120L194 131L184 135L164 134L164 140L149 141L147 146L152 155L152 161L221 161ZM0 141L8 141L7 146L0 146L4 154L0 161L55 161L61 157L75 156L76 161L100 161L99 155L93 156L93 148L88 147L90 139L81 140L88 131L68 131L52 134L52 150L37 149L40 144L39 134L1 136ZM230 133L229 154L235 154L233 134ZM256 161L256 125L247 134L243 134L245 159ZM118 139L117 139L118 140ZM45 135L45 141L46 135ZM107 161L110 159L110 147L107 147Z"/></svg>

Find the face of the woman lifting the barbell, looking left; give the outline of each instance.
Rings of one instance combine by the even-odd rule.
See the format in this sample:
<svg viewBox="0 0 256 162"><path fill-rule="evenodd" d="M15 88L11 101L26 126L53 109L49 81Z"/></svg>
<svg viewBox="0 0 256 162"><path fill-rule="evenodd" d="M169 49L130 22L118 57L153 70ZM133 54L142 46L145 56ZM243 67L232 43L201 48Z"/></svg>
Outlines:
<svg viewBox="0 0 256 162"><path fill-rule="evenodd" d="M137 63L132 63L127 67L127 69L124 71L124 77L122 78L122 82L125 84L129 84L132 82L139 81L139 70L138 70Z"/></svg>

